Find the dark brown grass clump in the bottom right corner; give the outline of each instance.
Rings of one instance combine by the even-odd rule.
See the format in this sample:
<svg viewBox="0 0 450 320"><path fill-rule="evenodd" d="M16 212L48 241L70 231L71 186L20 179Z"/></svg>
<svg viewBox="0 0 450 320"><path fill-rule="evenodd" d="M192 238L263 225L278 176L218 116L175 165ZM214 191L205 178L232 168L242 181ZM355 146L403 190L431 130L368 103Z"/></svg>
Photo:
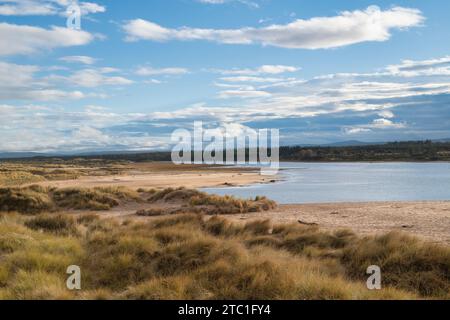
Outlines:
<svg viewBox="0 0 450 320"><path fill-rule="evenodd" d="M342 261L349 276L365 277L368 266L382 270L385 285L423 296L449 296L450 249L392 232L352 243Z"/></svg>

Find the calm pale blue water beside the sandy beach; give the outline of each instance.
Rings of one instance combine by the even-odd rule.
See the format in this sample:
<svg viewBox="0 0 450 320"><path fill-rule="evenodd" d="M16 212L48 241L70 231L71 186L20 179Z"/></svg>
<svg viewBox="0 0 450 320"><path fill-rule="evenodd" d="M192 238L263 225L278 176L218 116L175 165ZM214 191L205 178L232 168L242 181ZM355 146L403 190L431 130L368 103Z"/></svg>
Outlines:
<svg viewBox="0 0 450 320"><path fill-rule="evenodd" d="M282 204L450 200L450 163L282 163L283 181L207 188L239 197L267 195Z"/></svg>

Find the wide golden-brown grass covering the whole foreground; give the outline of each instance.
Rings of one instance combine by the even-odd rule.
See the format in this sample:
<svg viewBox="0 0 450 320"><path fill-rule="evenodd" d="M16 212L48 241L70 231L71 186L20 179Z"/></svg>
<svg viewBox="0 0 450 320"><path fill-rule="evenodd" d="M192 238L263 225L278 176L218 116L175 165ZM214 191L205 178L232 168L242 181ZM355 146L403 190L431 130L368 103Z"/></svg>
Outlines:
<svg viewBox="0 0 450 320"><path fill-rule="evenodd" d="M76 232L74 232L76 230ZM398 233L174 215L0 216L0 299L416 299L450 296L450 251ZM82 290L65 289L79 265ZM365 287L378 264L383 289Z"/></svg>

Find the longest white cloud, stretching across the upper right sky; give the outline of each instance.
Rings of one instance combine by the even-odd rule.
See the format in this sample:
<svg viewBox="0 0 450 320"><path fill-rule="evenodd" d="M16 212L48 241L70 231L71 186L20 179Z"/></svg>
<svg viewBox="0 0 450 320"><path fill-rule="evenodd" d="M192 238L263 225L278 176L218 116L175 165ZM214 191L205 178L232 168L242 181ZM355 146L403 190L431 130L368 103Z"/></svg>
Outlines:
<svg viewBox="0 0 450 320"><path fill-rule="evenodd" d="M419 26L424 21L417 9L394 7L385 11L376 6L345 11L334 17L296 20L264 28L170 29L143 19L128 21L123 29L127 41L207 40L226 44L262 44L283 48L326 49L367 41L386 41L393 30Z"/></svg>

